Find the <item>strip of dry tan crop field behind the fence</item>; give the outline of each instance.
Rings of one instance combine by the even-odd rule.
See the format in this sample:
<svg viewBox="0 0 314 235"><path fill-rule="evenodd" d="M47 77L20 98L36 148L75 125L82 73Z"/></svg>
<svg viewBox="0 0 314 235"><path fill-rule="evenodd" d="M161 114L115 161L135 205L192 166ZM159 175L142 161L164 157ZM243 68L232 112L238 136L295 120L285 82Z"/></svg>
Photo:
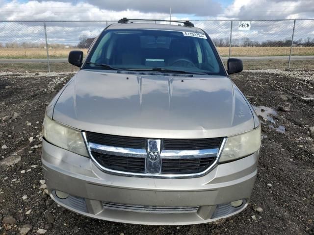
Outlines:
<svg viewBox="0 0 314 235"><path fill-rule="evenodd" d="M77 48L49 49L50 58L66 58ZM86 54L87 49L83 50ZM221 56L228 56L229 47L218 47ZM290 47L232 47L233 56L287 56ZM314 47L293 47L293 55L314 55ZM47 58L44 48L0 48L0 59L41 59Z"/></svg>

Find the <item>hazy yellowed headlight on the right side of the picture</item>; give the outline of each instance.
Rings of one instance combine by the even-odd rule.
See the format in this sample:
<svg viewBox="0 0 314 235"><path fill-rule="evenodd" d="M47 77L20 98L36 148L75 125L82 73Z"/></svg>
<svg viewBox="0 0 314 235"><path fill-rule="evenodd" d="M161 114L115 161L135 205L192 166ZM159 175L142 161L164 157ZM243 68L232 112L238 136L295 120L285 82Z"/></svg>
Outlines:
<svg viewBox="0 0 314 235"><path fill-rule="evenodd" d="M238 158L249 156L261 147L261 125L240 135L228 137L219 162L234 161Z"/></svg>

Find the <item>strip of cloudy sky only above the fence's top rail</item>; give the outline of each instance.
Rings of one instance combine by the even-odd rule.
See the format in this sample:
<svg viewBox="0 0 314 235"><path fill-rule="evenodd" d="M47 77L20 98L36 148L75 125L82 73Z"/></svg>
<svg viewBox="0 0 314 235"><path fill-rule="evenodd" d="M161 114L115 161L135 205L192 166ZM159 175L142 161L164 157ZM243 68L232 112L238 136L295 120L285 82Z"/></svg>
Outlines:
<svg viewBox="0 0 314 235"><path fill-rule="evenodd" d="M312 19L314 0L0 0L0 20Z"/></svg>

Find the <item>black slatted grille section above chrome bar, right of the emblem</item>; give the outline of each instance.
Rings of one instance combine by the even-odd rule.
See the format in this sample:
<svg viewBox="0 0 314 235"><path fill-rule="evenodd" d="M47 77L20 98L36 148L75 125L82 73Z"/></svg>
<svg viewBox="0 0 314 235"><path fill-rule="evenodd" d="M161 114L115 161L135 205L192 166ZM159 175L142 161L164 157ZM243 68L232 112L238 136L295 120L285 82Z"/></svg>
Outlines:
<svg viewBox="0 0 314 235"><path fill-rule="evenodd" d="M164 139L164 150L198 150L218 148L223 138L209 139Z"/></svg>

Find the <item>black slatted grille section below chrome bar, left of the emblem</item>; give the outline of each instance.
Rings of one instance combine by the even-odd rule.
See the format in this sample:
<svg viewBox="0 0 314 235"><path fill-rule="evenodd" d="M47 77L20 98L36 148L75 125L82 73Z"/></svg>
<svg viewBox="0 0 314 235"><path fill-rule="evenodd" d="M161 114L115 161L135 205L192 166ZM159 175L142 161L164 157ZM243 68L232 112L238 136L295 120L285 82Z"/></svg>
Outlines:
<svg viewBox="0 0 314 235"><path fill-rule="evenodd" d="M145 172L145 158L130 158L92 152L96 161L111 170L119 170L131 173Z"/></svg>

